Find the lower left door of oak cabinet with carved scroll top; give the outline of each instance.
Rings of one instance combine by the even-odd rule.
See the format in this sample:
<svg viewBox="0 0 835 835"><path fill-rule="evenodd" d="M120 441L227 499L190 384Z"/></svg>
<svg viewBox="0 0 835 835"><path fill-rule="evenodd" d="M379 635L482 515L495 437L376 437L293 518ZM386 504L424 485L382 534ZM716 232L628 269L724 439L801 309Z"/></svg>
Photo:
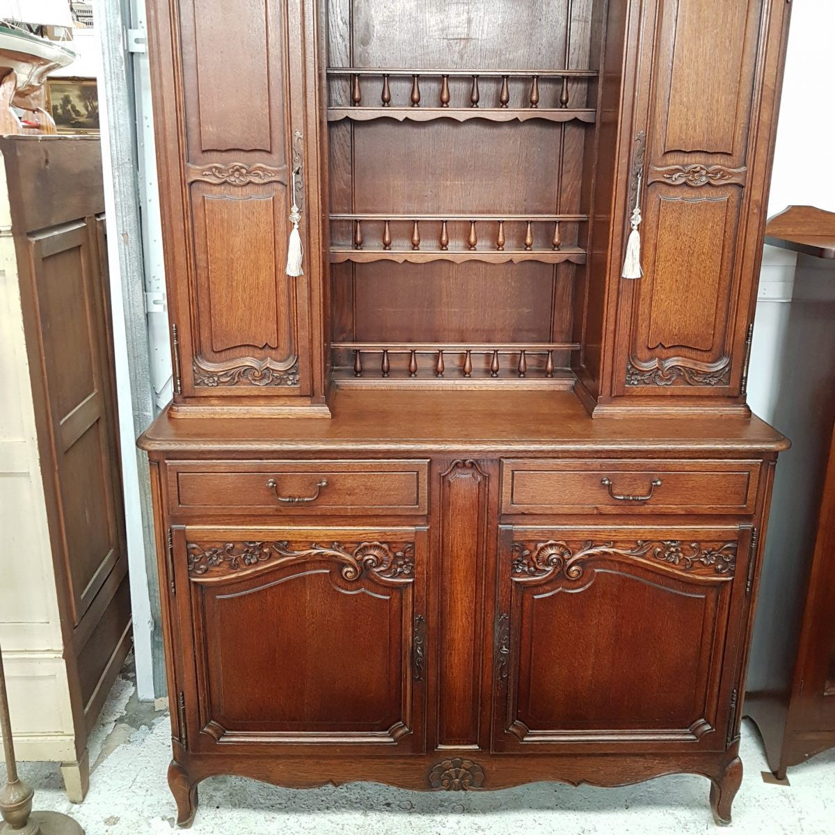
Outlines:
<svg viewBox="0 0 835 835"><path fill-rule="evenodd" d="M174 528L181 741L423 751L426 542L423 528Z"/></svg>

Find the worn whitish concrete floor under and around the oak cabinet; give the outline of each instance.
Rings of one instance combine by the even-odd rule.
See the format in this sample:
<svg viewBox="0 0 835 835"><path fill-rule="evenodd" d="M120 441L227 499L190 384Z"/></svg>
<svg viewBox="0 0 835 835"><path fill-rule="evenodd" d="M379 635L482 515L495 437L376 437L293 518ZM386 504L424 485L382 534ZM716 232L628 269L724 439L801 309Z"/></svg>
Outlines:
<svg viewBox="0 0 835 835"><path fill-rule="evenodd" d="M171 756L167 713L136 700L130 666L119 677L90 740L94 769L79 806L63 794L58 767L24 763L35 807L67 812L87 835L159 835L174 826L174 802L165 782ZM835 832L835 751L789 772L791 787L767 785L762 742L747 721L742 728L746 777L728 832L824 835ZM4 777L0 768L0 777ZM588 835L592 832L721 832L708 806L709 783L700 777L660 777L637 786L573 788L554 783L500 792L406 792L372 783L293 791L236 777L200 786L194 835L316 833L389 835L455 832L502 835L524 831Z"/></svg>

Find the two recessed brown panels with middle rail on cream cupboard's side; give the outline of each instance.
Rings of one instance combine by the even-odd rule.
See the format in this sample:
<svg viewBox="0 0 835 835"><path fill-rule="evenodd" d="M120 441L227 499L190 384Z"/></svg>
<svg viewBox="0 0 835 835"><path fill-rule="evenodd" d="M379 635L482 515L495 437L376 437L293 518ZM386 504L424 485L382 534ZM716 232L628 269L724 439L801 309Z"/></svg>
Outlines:
<svg viewBox="0 0 835 835"><path fill-rule="evenodd" d="M125 559L108 312L93 222L79 220L29 239L74 625Z"/></svg>

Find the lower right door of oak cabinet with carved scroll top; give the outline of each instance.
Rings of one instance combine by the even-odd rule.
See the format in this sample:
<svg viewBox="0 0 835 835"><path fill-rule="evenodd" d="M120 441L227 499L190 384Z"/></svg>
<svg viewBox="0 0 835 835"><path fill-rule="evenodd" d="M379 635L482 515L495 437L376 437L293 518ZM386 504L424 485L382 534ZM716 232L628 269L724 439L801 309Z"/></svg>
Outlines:
<svg viewBox="0 0 835 835"><path fill-rule="evenodd" d="M493 749L724 750L751 529L502 527Z"/></svg>

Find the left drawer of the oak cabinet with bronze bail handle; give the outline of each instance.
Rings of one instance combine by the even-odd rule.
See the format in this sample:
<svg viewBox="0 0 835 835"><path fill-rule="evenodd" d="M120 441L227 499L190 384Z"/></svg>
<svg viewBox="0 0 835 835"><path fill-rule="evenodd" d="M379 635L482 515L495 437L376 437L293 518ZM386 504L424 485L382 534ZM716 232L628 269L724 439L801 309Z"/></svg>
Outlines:
<svg viewBox="0 0 835 835"><path fill-rule="evenodd" d="M213 461L169 465L172 510L200 515L428 512L428 461Z"/></svg>

